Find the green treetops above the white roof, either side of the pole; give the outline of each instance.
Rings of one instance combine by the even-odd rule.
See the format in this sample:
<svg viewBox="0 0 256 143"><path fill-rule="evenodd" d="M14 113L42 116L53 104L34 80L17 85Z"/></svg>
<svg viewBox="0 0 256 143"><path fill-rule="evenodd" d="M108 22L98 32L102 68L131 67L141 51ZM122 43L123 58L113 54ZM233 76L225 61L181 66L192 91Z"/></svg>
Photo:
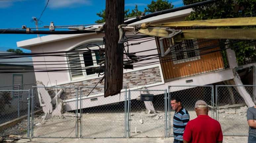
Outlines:
<svg viewBox="0 0 256 143"><path fill-rule="evenodd" d="M148 8L145 8L144 13L151 13L151 12L158 12L162 10L167 10L173 8L173 5L171 2L168 2L167 0L156 0L151 1L151 4L147 5ZM138 10L138 5L135 5L135 8L133 10L125 10L124 11L124 17L134 17L138 15L142 15L142 11ZM96 23L104 23L106 19L106 11L102 10L99 13L96 13L101 19L95 21Z"/></svg>

